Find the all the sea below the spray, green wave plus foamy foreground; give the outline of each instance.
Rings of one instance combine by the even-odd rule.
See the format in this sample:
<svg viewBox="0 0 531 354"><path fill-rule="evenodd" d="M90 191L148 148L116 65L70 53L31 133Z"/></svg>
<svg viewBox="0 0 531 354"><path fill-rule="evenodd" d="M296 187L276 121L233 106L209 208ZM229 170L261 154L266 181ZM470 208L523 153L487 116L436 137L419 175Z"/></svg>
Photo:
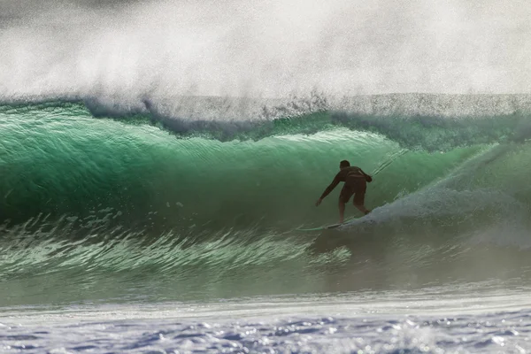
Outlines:
<svg viewBox="0 0 531 354"><path fill-rule="evenodd" d="M0 351L528 352L530 102L4 102Z"/></svg>

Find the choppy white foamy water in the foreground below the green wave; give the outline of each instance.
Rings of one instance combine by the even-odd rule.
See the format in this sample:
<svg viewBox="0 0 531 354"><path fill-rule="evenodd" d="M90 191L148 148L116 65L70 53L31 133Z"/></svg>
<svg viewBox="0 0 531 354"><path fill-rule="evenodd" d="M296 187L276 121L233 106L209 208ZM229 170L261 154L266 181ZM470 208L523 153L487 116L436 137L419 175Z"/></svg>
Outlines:
<svg viewBox="0 0 531 354"><path fill-rule="evenodd" d="M7 308L0 348L26 352L525 353L529 289L269 296Z"/></svg>

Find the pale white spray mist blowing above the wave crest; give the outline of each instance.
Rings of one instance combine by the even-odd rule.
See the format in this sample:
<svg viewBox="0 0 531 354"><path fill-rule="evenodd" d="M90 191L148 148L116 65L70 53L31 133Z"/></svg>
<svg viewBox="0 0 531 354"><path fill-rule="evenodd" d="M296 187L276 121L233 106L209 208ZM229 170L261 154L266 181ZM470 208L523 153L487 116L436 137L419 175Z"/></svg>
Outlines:
<svg viewBox="0 0 531 354"><path fill-rule="evenodd" d="M0 12L4 97L530 90L525 1L4 1Z"/></svg>

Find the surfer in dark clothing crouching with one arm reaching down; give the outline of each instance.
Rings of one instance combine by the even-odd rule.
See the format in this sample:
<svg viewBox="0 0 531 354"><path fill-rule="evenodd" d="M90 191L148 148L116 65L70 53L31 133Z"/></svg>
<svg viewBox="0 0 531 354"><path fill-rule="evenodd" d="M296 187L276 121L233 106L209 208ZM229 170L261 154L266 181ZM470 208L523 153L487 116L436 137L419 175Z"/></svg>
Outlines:
<svg viewBox="0 0 531 354"><path fill-rule="evenodd" d="M315 202L315 206L319 206L323 199L330 194L332 190L339 184L339 182L345 182L341 193L339 194L339 222L340 224L344 220L345 204L349 202L350 196L354 196L354 206L358 208L360 212L365 215L371 212L365 207L365 193L367 189L367 182L373 181L373 177L363 172L363 170L357 166L351 166L347 160L342 160L339 163L339 173L335 175L334 181L325 189L320 198Z"/></svg>

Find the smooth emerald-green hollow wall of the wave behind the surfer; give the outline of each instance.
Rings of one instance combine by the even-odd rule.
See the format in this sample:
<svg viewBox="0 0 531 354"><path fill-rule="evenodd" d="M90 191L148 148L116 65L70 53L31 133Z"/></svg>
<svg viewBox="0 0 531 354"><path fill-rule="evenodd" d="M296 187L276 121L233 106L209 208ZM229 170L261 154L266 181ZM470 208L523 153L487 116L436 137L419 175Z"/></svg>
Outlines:
<svg viewBox="0 0 531 354"><path fill-rule="evenodd" d="M147 124L93 119L81 105L4 112L0 124L3 218L16 223L105 210L144 226L289 229L335 221L341 187L319 209L313 204L342 159L368 173L385 167L369 185L374 207L443 177L480 149L402 156L382 135L343 127L258 141L179 138Z"/></svg>

